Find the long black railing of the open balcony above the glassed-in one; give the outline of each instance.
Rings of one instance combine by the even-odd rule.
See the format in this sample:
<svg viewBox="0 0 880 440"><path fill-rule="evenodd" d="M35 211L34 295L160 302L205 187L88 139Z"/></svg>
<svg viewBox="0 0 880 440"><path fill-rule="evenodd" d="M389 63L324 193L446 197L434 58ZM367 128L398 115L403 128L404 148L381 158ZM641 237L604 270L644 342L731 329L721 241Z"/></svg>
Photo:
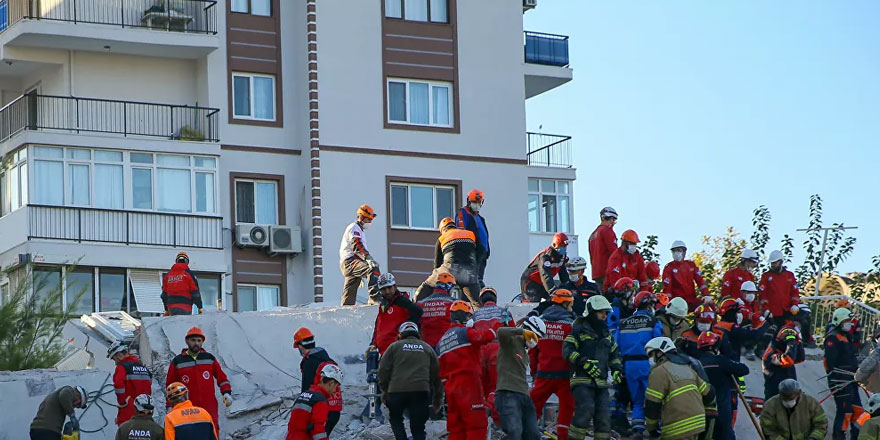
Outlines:
<svg viewBox="0 0 880 440"><path fill-rule="evenodd" d="M216 108L110 99L22 95L0 109L0 142L22 130L112 133L219 141Z"/></svg>

